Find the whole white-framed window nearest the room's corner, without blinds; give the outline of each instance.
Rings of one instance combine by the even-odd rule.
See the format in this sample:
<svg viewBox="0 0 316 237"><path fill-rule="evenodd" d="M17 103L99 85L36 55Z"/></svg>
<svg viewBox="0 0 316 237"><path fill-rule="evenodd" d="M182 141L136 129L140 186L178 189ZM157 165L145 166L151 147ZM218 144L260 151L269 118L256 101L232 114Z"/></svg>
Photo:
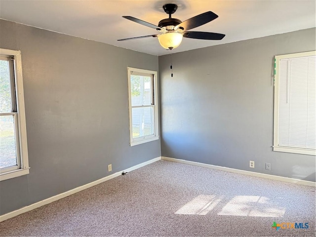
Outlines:
<svg viewBox="0 0 316 237"><path fill-rule="evenodd" d="M158 140L157 72L127 70L130 146Z"/></svg>

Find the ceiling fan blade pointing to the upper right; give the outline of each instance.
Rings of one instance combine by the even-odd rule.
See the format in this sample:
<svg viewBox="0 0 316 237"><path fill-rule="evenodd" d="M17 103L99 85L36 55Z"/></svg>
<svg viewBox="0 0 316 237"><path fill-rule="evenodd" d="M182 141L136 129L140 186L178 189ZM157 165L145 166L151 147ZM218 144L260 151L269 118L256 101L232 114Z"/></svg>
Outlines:
<svg viewBox="0 0 316 237"><path fill-rule="evenodd" d="M216 19L217 17L218 15L216 15L214 12L207 11L180 23L179 25L175 27L175 29L178 29L179 27L183 27L185 31L191 30L198 26L204 25L207 22L210 22Z"/></svg>

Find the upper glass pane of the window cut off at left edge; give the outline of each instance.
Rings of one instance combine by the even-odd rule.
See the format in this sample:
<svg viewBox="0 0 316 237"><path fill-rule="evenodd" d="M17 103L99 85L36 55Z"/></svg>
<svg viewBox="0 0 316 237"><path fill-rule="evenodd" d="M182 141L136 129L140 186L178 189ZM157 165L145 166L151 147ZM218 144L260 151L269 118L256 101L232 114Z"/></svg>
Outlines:
<svg viewBox="0 0 316 237"><path fill-rule="evenodd" d="M12 112L9 62L0 60L0 113Z"/></svg>

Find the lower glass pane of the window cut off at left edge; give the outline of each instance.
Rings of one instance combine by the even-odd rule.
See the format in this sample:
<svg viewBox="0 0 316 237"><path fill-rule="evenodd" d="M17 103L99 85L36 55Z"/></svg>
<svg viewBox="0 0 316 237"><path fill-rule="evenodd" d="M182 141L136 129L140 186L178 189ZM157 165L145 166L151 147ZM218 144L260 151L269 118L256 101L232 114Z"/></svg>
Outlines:
<svg viewBox="0 0 316 237"><path fill-rule="evenodd" d="M0 168L16 165L13 116L0 117Z"/></svg>

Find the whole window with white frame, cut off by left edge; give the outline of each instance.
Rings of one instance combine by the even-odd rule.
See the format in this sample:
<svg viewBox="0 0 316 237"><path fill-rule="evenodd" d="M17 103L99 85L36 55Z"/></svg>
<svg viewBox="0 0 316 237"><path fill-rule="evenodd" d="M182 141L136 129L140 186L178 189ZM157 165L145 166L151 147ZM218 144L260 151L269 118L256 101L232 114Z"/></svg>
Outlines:
<svg viewBox="0 0 316 237"><path fill-rule="evenodd" d="M0 49L0 180L28 173L21 52Z"/></svg>

